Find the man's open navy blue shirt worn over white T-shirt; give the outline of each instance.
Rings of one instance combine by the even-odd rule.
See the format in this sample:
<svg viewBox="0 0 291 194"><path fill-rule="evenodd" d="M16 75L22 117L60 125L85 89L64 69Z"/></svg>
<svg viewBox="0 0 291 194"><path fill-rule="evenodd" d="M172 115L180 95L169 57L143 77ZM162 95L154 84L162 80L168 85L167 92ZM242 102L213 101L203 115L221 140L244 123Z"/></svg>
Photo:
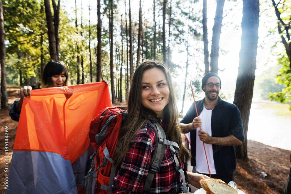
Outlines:
<svg viewBox="0 0 291 194"><path fill-rule="evenodd" d="M211 131L212 137L235 136L244 141L244 129L240 111L235 104L230 104L218 97L218 103L212 110ZM203 100L196 102L198 115L203 110ZM194 103L189 108L181 123L188 124L197 117ZM190 132L191 138L191 165L196 166L196 130ZM236 168L235 146L212 145L213 159L217 176L230 175ZM197 159L199 160L199 158Z"/></svg>

